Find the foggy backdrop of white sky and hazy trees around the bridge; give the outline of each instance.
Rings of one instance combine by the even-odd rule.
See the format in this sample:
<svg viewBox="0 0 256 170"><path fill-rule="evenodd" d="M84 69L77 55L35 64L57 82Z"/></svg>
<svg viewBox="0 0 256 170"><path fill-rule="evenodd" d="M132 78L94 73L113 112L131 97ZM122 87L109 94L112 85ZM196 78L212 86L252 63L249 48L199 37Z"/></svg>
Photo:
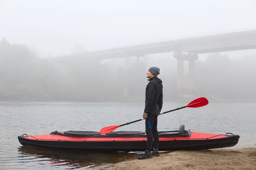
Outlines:
<svg viewBox="0 0 256 170"><path fill-rule="evenodd" d="M146 72L157 66L164 100L176 102L173 53L147 55L139 62L136 57L53 58L256 29L255 7L253 0L0 0L0 100L143 102ZM199 54L195 96L256 102L255 63L255 49Z"/></svg>

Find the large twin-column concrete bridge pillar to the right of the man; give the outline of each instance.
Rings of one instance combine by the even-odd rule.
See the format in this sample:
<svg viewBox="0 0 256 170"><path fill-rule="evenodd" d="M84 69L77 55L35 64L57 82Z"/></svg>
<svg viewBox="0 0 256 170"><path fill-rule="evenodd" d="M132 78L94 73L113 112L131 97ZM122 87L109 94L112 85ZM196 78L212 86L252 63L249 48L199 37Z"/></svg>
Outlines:
<svg viewBox="0 0 256 170"><path fill-rule="evenodd" d="M177 59L177 102L187 102L194 98L195 61L198 54L175 51L173 57ZM183 61L189 61L189 74L183 73Z"/></svg>

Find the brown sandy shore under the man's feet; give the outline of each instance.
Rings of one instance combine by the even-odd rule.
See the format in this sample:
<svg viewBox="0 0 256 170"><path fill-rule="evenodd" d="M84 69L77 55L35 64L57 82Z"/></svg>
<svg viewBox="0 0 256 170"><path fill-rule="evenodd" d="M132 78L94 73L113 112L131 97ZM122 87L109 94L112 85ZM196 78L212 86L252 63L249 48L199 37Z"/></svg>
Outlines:
<svg viewBox="0 0 256 170"><path fill-rule="evenodd" d="M256 170L256 147L175 151L145 160L137 156L97 170Z"/></svg>

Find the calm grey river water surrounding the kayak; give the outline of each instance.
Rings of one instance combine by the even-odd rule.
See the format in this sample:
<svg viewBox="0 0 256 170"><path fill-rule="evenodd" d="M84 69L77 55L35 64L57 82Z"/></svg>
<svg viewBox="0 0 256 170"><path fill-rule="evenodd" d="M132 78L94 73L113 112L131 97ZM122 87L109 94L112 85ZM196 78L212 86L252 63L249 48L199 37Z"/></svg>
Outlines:
<svg viewBox="0 0 256 170"><path fill-rule="evenodd" d="M186 105L164 103L162 111ZM22 147L17 136L52 131L93 130L140 119L143 104L116 103L0 103L0 169L93 169L134 157L134 153L89 153ZM210 103L184 108L158 117L158 130L185 129L240 135L234 147L256 146L256 104ZM117 130L144 131L144 121ZM116 131L117 131L116 130Z"/></svg>

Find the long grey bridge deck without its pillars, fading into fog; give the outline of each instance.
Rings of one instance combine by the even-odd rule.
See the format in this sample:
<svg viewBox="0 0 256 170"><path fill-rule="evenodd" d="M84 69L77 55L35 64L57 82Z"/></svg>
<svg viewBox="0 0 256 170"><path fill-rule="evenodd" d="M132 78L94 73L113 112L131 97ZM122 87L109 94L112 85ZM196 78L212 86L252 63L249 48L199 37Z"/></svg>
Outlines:
<svg viewBox="0 0 256 170"><path fill-rule="evenodd" d="M107 50L92 51L78 55L67 55L53 58L55 61L74 59L77 57L96 57L99 59L115 59L147 54L186 51L204 54L222 51L237 51L256 48L256 30L231 32L202 37L168 40L146 43Z"/></svg>

